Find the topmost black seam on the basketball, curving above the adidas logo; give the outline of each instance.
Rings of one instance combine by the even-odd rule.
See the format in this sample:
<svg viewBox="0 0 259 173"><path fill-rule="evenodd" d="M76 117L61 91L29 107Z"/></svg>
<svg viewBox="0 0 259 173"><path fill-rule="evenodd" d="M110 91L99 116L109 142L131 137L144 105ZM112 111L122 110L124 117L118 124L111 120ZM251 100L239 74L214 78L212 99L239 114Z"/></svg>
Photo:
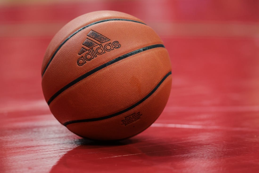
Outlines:
<svg viewBox="0 0 259 173"><path fill-rule="evenodd" d="M130 19L105 19L105 20L100 20L100 21L97 21L97 22L93 22L93 23L91 23L91 24L89 24L89 25L86 25L86 26L80 28L79 30L77 30L76 32L74 32L73 34L71 34L66 40L64 40L64 41L59 45L59 47L57 48L57 50L56 50L56 51L54 52L54 54L52 55L51 59L48 61L48 64L46 65L46 67L45 67L45 69L44 69L44 71L43 71L41 77L43 77L45 71L47 70L47 68L48 68L48 66L49 66L49 64L50 64L50 62L52 61L52 59L53 59L54 56L56 55L57 51L59 51L59 49L63 46L63 44L65 44L65 43L67 42L67 40L69 40L69 39L70 39L71 37L73 37L76 33L82 31L83 29L85 29L85 28L87 28L87 27L89 27L89 26L95 25L95 24L97 24L97 23L108 22L108 21L113 21L113 20L123 20L123 21L136 22L136 23L141 23L141 24L146 25L145 23L142 23L142 22L139 22L139 21L135 21L135 20L130 20Z"/></svg>

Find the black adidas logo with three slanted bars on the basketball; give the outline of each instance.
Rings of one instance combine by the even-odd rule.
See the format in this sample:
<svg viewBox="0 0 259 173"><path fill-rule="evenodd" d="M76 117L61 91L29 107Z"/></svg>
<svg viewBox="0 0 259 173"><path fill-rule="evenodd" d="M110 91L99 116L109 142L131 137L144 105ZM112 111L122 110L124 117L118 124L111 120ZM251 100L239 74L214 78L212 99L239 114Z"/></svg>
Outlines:
<svg viewBox="0 0 259 173"><path fill-rule="evenodd" d="M114 49L120 48L119 41L106 43L110 41L110 39L104 37L102 34L95 32L93 30L91 30L87 34L87 36L89 38L85 39L84 43L82 44L85 47L82 47L78 52L78 55L81 56L81 58L78 58L77 60L77 65L79 66L82 66L87 61L90 61L93 58L96 58L97 56L104 54L106 51L110 52Z"/></svg>

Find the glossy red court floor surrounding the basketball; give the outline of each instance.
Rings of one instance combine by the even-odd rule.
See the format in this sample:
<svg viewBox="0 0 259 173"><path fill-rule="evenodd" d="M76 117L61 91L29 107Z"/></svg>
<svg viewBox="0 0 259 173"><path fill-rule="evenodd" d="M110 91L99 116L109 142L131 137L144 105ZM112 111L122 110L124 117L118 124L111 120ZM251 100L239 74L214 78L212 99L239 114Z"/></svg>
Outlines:
<svg viewBox="0 0 259 173"><path fill-rule="evenodd" d="M0 3L0 172L259 172L257 0L29 2ZM120 142L71 133L41 90L54 34L96 10L145 21L172 62L163 113Z"/></svg>

